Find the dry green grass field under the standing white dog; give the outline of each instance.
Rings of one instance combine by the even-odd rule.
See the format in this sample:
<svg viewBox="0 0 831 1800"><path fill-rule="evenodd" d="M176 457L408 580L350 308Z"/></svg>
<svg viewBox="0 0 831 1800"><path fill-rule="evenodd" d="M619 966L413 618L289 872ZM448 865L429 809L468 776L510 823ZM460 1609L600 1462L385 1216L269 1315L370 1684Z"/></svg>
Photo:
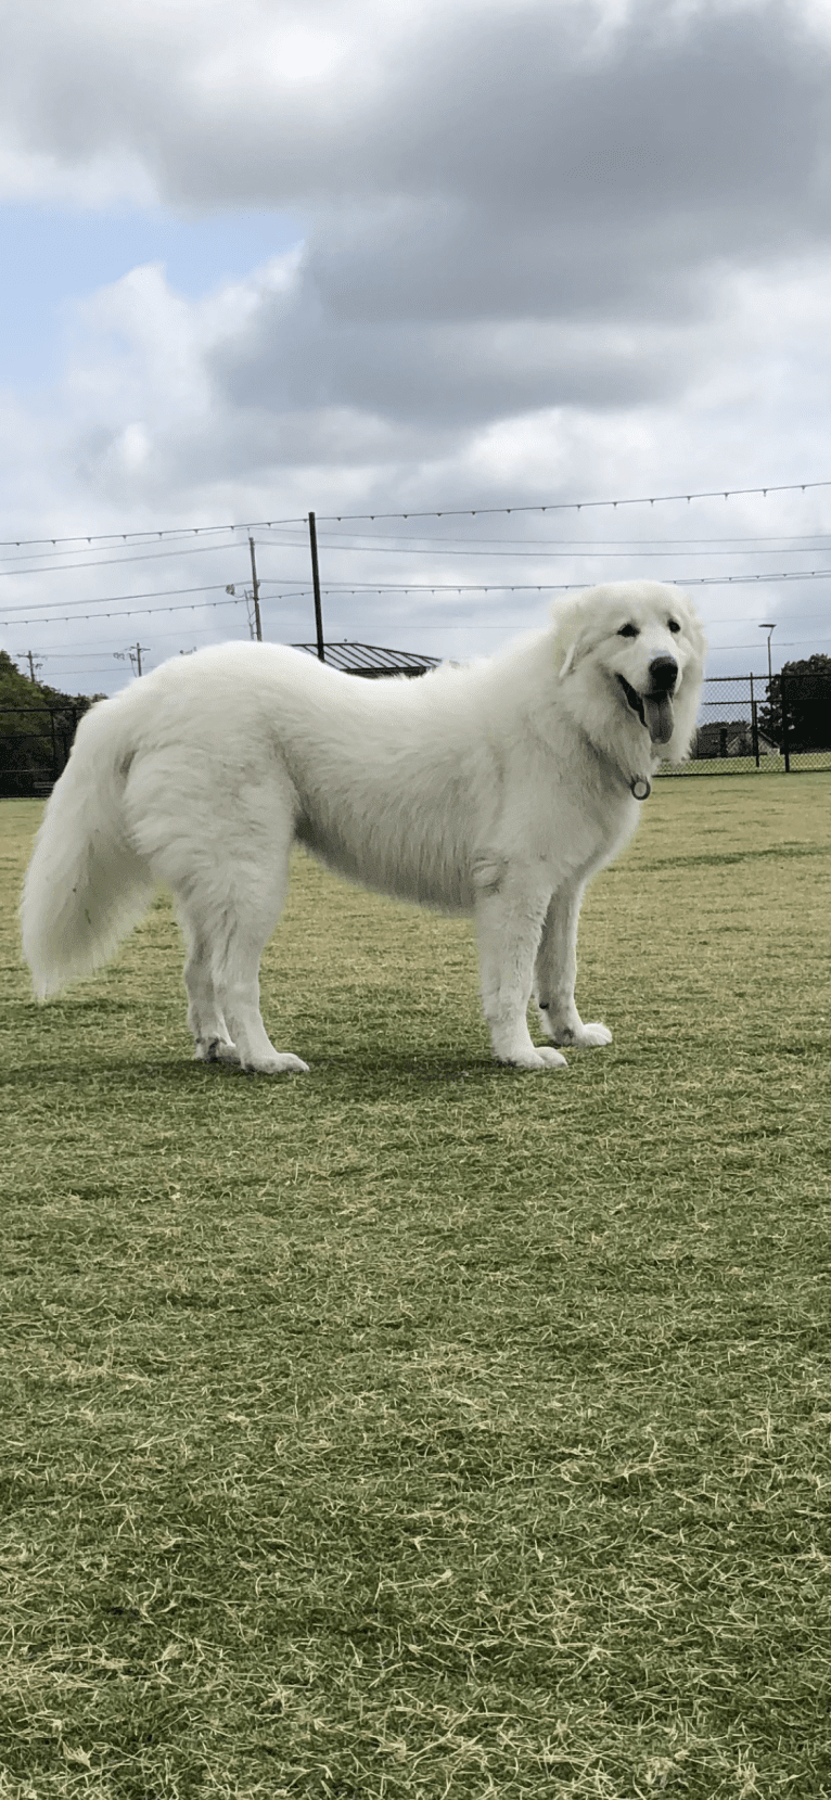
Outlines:
<svg viewBox="0 0 831 1800"><path fill-rule="evenodd" d="M299 859L189 1060L160 902L29 999L0 806L4 1800L831 1795L827 776L660 781L559 1075Z"/></svg>

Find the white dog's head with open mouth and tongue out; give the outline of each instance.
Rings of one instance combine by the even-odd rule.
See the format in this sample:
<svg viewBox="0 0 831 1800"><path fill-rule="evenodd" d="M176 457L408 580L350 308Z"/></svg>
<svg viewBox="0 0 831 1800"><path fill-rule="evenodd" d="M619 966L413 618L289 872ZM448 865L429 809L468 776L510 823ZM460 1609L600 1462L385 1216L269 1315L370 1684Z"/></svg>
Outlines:
<svg viewBox="0 0 831 1800"><path fill-rule="evenodd" d="M680 763L701 689L705 639L698 614L662 581L610 581L554 610L563 698L604 749ZM635 734L640 734L633 738Z"/></svg>

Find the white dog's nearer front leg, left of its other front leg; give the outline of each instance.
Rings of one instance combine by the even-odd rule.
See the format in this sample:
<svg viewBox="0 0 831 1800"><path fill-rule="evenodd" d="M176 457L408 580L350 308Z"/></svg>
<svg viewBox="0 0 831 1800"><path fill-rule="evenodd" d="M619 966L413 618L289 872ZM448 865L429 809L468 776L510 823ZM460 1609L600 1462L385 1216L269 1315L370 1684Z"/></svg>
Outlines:
<svg viewBox="0 0 831 1800"><path fill-rule="evenodd" d="M549 889L496 862L482 864L475 884L482 1006L493 1055L518 1069L563 1069L559 1051L531 1042L527 1022Z"/></svg>

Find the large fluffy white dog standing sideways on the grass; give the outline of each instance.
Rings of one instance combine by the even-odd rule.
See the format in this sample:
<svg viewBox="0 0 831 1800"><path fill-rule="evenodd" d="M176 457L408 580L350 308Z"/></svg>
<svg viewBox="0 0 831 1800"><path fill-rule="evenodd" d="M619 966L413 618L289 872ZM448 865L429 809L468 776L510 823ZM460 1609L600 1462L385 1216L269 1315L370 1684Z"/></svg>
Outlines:
<svg viewBox="0 0 831 1800"><path fill-rule="evenodd" d="M367 887L471 913L493 1055L563 1067L554 1044L612 1037L574 1004L586 882L635 832L658 760L687 754L703 650L678 589L622 581L416 680L360 680L281 644L164 662L86 713L47 805L22 907L36 994L104 963L165 887L196 1057L306 1071L259 1013L259 959L306 844Z"/></svg>

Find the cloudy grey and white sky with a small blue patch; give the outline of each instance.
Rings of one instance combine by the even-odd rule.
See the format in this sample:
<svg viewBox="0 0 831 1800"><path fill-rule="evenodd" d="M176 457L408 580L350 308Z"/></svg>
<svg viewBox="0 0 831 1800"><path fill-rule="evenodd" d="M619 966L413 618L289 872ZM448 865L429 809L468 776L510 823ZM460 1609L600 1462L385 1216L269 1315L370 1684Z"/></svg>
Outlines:
<svg viewBox="0 0 831 1800"><path fill-rule="evenodd" d="M313 637L309 509L333 639L464 657L649 574L714 673L763 621L831 653L831 0L0 16L0 644L45 680L245 635L248 535Z"/></svg>

